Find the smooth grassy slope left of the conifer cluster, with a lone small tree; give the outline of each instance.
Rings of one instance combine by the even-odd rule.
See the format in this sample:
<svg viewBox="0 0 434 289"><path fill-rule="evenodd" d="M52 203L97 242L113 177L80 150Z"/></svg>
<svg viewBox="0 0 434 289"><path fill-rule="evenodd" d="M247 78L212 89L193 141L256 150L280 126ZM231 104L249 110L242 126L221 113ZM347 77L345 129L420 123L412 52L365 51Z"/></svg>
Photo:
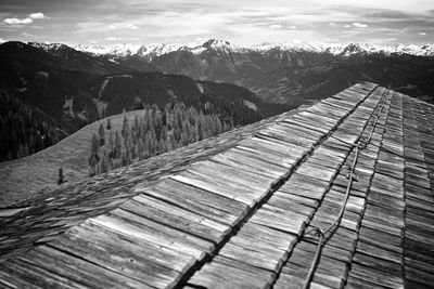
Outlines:
<svg viewBox="0 0 434 289"><path fill-rule="evenodd" d="M127 118L132 121L135 115L144 110L128 111ZM111 116L112 130L120 131L124 115ZM65 137L53 146L31 156L0 162L0 207L11 205L35 196L41 189L59 187L59 168L63 168L66 184L88 178L88 156L90 139L98 132L100 123L106 123L106 118L98 120L76 133ZM106 137L108 137L106 131Z"/></svg>

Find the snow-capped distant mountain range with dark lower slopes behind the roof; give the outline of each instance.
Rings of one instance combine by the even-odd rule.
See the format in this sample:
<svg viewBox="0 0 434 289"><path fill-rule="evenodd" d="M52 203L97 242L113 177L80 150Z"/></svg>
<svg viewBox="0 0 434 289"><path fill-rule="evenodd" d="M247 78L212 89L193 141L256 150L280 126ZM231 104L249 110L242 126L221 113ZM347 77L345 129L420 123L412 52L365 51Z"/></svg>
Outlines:
<svg viewBox="0 0 434 289"><path fill-rule="evenodd" d="M55 45L55 44L51 44ZM48 50L49 47L47 47ZM261 43L75 45L136 70L230 82L290 107L330 96L356 81L374 81L433 102L434 44Z"/></svg>

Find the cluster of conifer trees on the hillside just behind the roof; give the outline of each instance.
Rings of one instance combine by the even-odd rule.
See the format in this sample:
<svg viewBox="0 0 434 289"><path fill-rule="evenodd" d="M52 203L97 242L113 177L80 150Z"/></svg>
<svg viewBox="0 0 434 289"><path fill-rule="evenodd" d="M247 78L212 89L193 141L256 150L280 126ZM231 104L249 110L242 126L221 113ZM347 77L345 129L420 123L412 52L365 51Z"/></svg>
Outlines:
<svg viewBox="0 0 434 289"><path fill-rule="evenodd" d="M133 119L124 115L120 131L113 130L111 119L101 123L90 140L90 175L130 165L158 154L217 135L233 128L230 118L206 113L181 102L164 108L146 105Z"/></svg>

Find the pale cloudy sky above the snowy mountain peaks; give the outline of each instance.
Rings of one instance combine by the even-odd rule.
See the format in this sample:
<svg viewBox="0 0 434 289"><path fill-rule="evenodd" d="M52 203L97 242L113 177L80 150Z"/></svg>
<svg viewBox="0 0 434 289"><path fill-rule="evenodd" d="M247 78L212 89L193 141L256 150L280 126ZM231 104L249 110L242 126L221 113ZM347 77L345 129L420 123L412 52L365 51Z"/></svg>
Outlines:
<svg viewBox="0 0 434 289"><path fill-rule="evenodd" d="M359 2L359 3L356 3ZM433 0L0 0L0 39L433 43Z"/></svg>

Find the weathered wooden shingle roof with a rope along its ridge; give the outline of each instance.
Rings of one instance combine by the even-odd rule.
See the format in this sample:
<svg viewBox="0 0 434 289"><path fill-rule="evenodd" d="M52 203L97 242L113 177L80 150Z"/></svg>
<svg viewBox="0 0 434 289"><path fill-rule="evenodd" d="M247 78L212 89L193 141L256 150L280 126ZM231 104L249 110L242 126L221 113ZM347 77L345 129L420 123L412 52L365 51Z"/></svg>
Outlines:
<svg viewBox="0 0 434 289"><path fill-rule="evenodd" d="M299 288L371 129L311 288L432 288L433 123L358 83L37 198L0 219L0 288Z"/></svg>

